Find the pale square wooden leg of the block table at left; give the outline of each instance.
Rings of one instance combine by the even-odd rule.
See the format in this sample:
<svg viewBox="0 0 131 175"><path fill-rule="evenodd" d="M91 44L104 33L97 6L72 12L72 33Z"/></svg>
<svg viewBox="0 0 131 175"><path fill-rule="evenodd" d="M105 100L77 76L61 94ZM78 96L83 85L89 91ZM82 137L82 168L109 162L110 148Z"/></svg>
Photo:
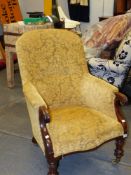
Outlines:
<svg viewBox="0 0 131 175"><path fill-rule="evenodd" d="M14 87L14 60L13 53L6 52L6 73L7 73L7 86Z"/></svg>

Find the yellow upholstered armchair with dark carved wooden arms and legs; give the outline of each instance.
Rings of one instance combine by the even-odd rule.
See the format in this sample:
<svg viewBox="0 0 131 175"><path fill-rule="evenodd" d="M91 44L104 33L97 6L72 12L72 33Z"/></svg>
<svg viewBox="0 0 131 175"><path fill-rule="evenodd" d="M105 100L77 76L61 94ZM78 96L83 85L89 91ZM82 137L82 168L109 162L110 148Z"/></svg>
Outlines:
<svg viewBox="0 0 131 175"><path fill-rule="evenodd" d="M123 156L126 97L87 70L81 39L60 29L34 30L16 43L34 143L58 175L61 157L115 139L115 162Z"/></svg>

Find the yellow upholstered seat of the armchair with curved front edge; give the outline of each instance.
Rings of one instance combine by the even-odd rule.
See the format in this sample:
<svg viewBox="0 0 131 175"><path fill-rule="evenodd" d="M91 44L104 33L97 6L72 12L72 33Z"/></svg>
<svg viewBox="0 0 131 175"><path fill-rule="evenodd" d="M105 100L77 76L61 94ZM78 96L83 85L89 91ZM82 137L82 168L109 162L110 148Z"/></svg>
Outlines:
<svg viewBox="0 0 131 175"><path fill-rule="evenodd" d="M54 109L50 115L51 122L47 128L55 157L95 148L123 134L123 128L117 119L88 107Z"/></svg>

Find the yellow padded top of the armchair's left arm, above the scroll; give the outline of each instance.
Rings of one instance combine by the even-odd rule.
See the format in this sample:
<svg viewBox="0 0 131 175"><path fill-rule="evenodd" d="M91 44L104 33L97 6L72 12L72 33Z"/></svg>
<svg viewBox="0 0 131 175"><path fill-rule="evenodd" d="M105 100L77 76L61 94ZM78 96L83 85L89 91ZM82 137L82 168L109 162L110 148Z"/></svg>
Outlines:
<svg viewBox="0 0 131 175"><path fill-rule="evenodd" d="M23 92L25 97L34 108L38 108L40 106L47 108L45 101L31 82L27 82L23 85Z"/></svg>

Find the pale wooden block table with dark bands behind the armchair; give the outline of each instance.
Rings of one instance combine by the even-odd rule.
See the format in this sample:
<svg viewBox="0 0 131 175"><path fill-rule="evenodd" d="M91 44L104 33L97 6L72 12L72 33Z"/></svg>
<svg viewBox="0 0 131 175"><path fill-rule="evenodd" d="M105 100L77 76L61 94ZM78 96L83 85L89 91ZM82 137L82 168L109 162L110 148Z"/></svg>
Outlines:
<svg viewBox="0 0 131 175"><path fill-rule="evenodd" d="M14 82L14 54L16 53L15 44L17 39L25 32L36 29L53 28L53 23L45 23L43 25L24 25L20 23L4 24L4 40L6 54L6 72L7 86L13 88Z"/></svg>

